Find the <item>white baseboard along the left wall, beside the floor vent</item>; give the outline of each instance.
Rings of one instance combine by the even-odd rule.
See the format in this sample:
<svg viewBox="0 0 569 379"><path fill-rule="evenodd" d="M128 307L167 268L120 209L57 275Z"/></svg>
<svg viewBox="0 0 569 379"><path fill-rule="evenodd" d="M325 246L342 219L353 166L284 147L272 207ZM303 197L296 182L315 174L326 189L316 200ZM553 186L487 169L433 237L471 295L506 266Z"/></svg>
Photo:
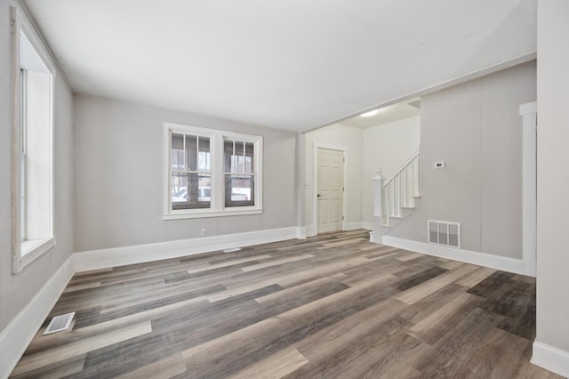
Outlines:
<svg viewBox="0 0 569 379"><path fill-rule="evenodd" d="M0 333L0 378L7 378L18 364L36 335L37 328L44 323L53 305L59 300L63 290L75 273L73 255L55 271L39 292L24 309L16 315Z"/></svg>

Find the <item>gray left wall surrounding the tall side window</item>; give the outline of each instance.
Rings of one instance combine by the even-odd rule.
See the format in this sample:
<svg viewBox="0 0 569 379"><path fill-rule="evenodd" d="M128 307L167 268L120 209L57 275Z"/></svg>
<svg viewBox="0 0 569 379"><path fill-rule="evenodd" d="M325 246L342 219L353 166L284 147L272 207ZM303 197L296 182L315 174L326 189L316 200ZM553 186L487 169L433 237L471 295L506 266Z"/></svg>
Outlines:
<svg viewBox="0 0 569 379"><path fill-rule="evenodd" d="M57 245L12 275L10 6L0 0L0 330L22 310L73 252L73 97L55 79L53 119L54 234ZM23 13L22 13L23 15Z"/></svg>

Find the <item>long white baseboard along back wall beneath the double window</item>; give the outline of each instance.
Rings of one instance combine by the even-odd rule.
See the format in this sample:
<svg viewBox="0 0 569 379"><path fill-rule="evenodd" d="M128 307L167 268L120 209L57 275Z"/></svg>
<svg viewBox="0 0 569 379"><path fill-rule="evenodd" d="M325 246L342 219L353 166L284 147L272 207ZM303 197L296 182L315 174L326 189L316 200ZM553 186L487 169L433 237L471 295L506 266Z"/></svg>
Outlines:
<svg viewBox="0 0 569 379"><path fill-rule="evenodd" d="M257 230L222 236L180 239L156 244L115 247L73 254L75 270L100 270L126 264L159 261L233 247L253 246L285 239L306 237L303 228Z"/></svg>

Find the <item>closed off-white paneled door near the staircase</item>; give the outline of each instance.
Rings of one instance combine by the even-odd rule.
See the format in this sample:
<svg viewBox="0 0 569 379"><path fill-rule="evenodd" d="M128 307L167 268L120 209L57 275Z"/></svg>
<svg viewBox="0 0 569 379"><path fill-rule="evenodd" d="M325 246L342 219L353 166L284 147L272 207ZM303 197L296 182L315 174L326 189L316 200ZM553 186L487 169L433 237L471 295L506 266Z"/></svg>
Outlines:
<svg viewBox="0 0 569 379"><path fill-rule="evenodd" d="M318 148L318 233L341 230L344 200L344 152Z"/></svg>

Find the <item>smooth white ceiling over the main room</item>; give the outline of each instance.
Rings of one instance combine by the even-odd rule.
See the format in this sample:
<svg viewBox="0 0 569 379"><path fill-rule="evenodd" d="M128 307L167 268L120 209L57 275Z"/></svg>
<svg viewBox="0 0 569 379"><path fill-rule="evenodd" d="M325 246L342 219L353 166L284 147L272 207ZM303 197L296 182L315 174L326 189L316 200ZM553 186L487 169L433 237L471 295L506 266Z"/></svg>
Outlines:
<svg viewBox="0 0 569 379"><path fill-rule="evenodd" d="M536 50L536 0L25 0L74 90L306 131Z"/></svg>

